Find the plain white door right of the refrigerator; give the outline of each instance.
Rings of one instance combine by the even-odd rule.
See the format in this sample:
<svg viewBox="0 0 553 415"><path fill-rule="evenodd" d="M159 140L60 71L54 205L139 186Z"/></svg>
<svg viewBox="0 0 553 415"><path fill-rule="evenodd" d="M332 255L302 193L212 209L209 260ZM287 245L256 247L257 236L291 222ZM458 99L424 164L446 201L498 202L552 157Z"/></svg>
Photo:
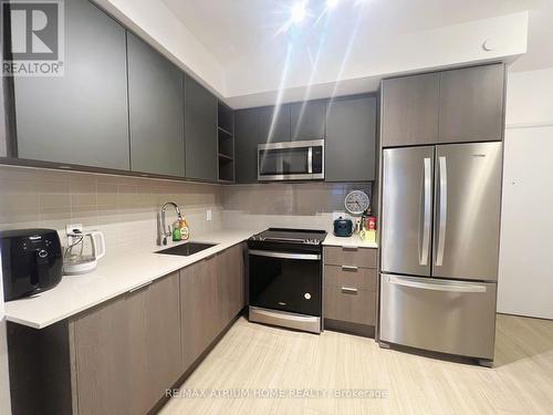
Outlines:
<svg viewBox="0 0 553 415"><path fill-rule="evenodd" d="M553 319L553 126L505 134L498 311Z"/></svg>

